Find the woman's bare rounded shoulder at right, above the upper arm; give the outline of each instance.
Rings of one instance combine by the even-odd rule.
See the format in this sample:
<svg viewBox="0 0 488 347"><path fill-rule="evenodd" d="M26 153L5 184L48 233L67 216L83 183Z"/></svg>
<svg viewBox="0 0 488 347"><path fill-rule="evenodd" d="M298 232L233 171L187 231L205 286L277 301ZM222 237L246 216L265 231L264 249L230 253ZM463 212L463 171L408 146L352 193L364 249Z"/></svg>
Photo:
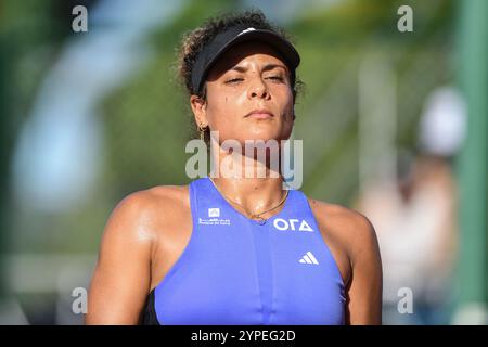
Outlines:
<svg viewBox="0 0 488 347"><path fill-rule="evenodd" d="M341 242L351 259L368 248L376 252L376 233L365 216L355 209L314 198L309 198L309 204L319 224Z"/></svg>

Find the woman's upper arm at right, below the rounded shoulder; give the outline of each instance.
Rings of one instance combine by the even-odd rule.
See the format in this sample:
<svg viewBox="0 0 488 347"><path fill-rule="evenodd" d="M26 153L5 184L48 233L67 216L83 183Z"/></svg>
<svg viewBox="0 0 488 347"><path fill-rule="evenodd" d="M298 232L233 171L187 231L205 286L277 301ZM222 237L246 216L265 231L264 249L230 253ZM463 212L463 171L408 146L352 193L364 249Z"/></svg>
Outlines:
<svg viewBox="0 0 488 347"><path fill-rule="evenodd" d="M351 277L347 286L347 324L382 324L383 272L376 233L360 214L352 217Z"/></svg>

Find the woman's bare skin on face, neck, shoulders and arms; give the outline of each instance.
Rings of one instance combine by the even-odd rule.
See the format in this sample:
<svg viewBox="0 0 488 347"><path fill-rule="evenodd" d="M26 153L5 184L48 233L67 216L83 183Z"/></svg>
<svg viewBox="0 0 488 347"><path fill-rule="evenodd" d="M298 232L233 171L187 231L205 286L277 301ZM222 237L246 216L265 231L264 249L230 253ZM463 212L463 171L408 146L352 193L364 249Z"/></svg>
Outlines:
<svg viewBox="0 0 488 347"><path fill-rule="evenodd" d="M218 130L221 141L288 139L294 98L287 76L285 64L269 47L241 43L211 69L207 100L191 97L195 119ZM272 117L246 116L261 108ZM240 203L232 206L245 213L265 210L282 197L281 178L216 182ZM346 323L381 324L382 265L372 224L343 206L310 197L309 203L346 284ZM188 185L155 187L124 198L103 233L86 324L138 324L147 294L179 258L191 232Z"/></svg>

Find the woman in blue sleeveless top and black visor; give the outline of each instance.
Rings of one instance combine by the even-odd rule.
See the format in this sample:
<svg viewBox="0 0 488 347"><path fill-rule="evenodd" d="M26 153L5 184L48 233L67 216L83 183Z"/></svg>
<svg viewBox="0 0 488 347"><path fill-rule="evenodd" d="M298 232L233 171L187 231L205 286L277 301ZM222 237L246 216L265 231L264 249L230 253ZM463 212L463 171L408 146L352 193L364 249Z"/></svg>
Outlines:
<svg viewBox="0 0 488 347"><path fill-rule="evenodd" d="M259 11L211 18L185 36L179 73L202 134L219 133L220 159L231 155L219 147L229 139L290 138L298 64ZM245 166L259 166L248 158ZM371 223L284 189L271 171L124 198L105 227L86 323L381 324Z"/></svg>

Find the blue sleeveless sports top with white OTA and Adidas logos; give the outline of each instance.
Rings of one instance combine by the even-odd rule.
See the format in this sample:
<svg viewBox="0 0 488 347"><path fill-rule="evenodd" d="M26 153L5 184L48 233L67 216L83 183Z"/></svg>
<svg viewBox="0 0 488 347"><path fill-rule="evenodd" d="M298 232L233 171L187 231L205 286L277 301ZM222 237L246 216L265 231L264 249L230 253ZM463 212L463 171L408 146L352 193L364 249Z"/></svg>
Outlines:
<svg viewBox="0 0 488 347"><path fill-rule="evenodd" d="M190 183L190 241L151 291L143 324L344 324L343 279L301 191L265 223L208 177Z"/></svg>

